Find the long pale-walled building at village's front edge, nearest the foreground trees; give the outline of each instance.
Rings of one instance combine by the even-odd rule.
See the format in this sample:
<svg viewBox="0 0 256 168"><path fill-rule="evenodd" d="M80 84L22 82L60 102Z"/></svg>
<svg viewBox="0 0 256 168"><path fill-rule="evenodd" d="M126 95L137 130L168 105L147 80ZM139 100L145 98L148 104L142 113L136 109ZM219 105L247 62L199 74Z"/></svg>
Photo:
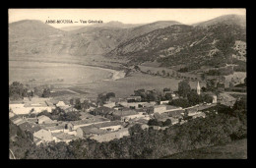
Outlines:
<svg viewBox="0 0 256 168"><path fill-rule="evenodd" d="M121 139L125 136L129 136L129 132L127 128L121 129L117 132L110 132L110 133L105 133L103 135L99 135L99 136L94 136L91 139L93 140L97 140L99 142L102 141L110 141L110 140L115 140L115 139Z"/></svg>

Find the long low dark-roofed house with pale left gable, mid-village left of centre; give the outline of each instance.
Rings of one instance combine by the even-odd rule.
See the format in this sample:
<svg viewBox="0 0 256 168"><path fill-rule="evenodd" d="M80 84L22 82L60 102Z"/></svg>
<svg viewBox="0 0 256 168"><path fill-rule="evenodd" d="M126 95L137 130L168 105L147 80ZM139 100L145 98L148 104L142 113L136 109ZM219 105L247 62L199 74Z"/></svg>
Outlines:
<svg viewBox="0 0 256 168"><path fill-rule="evenodd" d="M106 123L106 122L110 122L110 120L103 117L94 116L92 118L88 118L85 120L72 121L68 123L67 127L68 127L68 130L71 132L71 131L77 130L80 127L90 126L98 123Z"/></svg>

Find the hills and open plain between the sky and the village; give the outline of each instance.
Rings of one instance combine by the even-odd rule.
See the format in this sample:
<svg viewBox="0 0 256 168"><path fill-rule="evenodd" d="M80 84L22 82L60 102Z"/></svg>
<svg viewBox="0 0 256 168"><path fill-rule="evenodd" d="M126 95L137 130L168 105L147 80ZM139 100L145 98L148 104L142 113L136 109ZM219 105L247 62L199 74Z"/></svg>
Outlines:
<svg viewBox="0 0 256 168"><path fill-rule="evenodd" d="M103 91L127 96L138 88L171 87L174 90L175 85L181 81L136 72L134 65L139 65L144 72L175 71L182 73L183 77L193 77L196 80L190 82L192 87L200 80L198 73L218 70L226 67L226 64L234 66L233 69L238 67L243 72L236 74L244 78L244 25L245 17L235 15L193 26L175 21L145 25L110 22L90 27L58 29L40 21L20 21L9 25L9 61L16 65L10 63L10 79L27 81L28 84L45 82L65 88L72 87L86 92L88 96L96 96ZM29 64L33 68L30 69ZM55 67L46 71L45 64L54 64ZM63 64L72 64L74 70L65 69ZM110 70L92 71L92 68L86 69L85 66ZM125 78L119 77L123 72L130 74L127 73ZM30 74L30 77L26 77L26 74ZM118 80L109 81L116 77ZM232 74L226 76L227 81L232 78ZM124 86L126 89L123 89Z"/></svg>

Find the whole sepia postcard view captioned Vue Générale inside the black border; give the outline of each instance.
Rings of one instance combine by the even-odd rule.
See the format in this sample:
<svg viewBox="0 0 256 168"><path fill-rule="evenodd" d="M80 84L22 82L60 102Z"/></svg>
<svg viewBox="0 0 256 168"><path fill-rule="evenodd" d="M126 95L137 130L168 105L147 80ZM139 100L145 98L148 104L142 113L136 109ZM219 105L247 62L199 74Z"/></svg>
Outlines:
<svg viewBox="0 0 256 168"><path fill-rule="evenodd" d="M9 159L247 159L245 8L8 9Z"/></svg>

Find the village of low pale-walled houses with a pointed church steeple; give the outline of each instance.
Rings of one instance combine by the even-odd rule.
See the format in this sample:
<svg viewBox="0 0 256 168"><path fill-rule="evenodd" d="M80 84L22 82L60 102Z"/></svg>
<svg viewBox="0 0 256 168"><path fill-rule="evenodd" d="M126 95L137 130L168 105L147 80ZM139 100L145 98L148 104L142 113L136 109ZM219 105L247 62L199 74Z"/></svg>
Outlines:
<svg viewBox="0 0 256 168"><path fill-rule="evenodd" d="M199 83L194 90L197 95L202 94ZM181 125L198 117L205 118L206 112L202 110L215 106L223 100L220 95L210 93L208 95L212 97L212 102L183 108L170 105L170 101L179 99L180 95L177 91L168 88L163 88L161 94L164 97L171 96L172 100L142 101L142 97L138 94L138 92L154 91L139 89L126 98L118 98L114 93L109 93L107 98L101 99L101 103L96 99L85 98L82 102L87 103L83 106L80 104L79 108L75 103L76 100L73 99L70 103L63 101L52 103L51 97L24 97L23 103L10 102L9 116L10 120L36 145L47 144L49 141L69 143L71 140L88 138L101 142L129 136L128 129L136 124L142 129L164 130L171 125ZM228 100L228 102L234 101L235 99ZM79 119L61 121L52 120L47 115L37 115L42 112L51 114L56 109L63 113L79 114Z"/></svg>

